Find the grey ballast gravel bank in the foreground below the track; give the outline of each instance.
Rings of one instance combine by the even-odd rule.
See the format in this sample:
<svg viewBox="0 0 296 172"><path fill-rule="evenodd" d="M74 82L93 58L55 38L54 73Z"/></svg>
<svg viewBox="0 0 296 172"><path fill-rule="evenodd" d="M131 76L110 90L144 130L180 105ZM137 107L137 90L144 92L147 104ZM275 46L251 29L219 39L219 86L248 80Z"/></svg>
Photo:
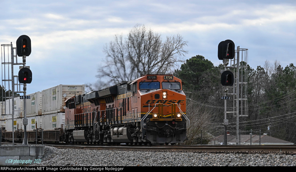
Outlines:
<svg viewBox="0 0 296 172"><path fill-rule="evenodd" d="M296 166L296 155L57 149L45 146L41 163L32 166Z"/></svg>

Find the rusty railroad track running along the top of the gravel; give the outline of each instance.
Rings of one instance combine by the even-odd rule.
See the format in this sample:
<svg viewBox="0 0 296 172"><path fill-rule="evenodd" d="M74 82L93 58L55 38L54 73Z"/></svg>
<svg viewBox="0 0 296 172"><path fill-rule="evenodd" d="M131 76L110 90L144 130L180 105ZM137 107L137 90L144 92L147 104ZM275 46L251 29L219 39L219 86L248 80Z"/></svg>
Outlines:
<svg viewBox="0 0 296 172"><path fill-rule="evenodd" d="M3 143L3 142L2 142ZM11 144L4 142L4 144ZM284 153L296 154L296 145L94 145L45 144L60 149L132 150L132 151L186 151L209 153Z"/></svg>

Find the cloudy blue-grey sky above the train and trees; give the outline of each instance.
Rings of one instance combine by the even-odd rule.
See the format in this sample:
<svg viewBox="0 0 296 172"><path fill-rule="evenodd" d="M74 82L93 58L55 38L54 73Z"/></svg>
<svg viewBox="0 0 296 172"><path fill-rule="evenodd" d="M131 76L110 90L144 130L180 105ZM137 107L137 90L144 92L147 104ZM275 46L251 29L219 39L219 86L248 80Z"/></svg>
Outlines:
<svg viewBox="0 0 296 172"><path fill-rule="evenodd" d="M20 35L31 38L28 94L59 84L96 82L104 45L115 34L125 37L136 24L163 37L182 35L188 41L186 59L202 55L218 65L218 44L231 39L249 49L252 68L266 60L278 60L284 67L295 64L295 0L2 0L0 11L1 44L15 47Z"/></svg>

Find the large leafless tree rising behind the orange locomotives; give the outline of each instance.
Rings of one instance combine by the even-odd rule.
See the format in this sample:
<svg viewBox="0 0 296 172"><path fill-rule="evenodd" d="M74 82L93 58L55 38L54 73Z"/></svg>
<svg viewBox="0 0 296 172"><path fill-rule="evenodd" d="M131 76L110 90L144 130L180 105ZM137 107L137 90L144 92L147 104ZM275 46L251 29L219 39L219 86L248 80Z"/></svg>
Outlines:
<svg viewBox="0 0 296 172"><path fill-rule="evenodd" d="M104 47L105 64L98 68L100 81L109 84L136 79L144 74L168 74L184 62L187 41L181 35L167 36L163 41L159 33L144 25L133 27L127 38L115 35Z"/></svg>

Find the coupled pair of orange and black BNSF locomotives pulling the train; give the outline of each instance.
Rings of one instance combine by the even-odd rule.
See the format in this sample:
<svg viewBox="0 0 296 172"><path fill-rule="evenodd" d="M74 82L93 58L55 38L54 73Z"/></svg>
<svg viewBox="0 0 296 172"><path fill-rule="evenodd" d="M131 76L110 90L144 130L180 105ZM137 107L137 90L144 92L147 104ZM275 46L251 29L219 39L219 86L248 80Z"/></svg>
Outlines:
<svg viewBox="0 0 296 172"><path fill-rule="evenodd" d="M66 100L65 142L175 144L189 119L181 79L144 75Z"/></svg>

